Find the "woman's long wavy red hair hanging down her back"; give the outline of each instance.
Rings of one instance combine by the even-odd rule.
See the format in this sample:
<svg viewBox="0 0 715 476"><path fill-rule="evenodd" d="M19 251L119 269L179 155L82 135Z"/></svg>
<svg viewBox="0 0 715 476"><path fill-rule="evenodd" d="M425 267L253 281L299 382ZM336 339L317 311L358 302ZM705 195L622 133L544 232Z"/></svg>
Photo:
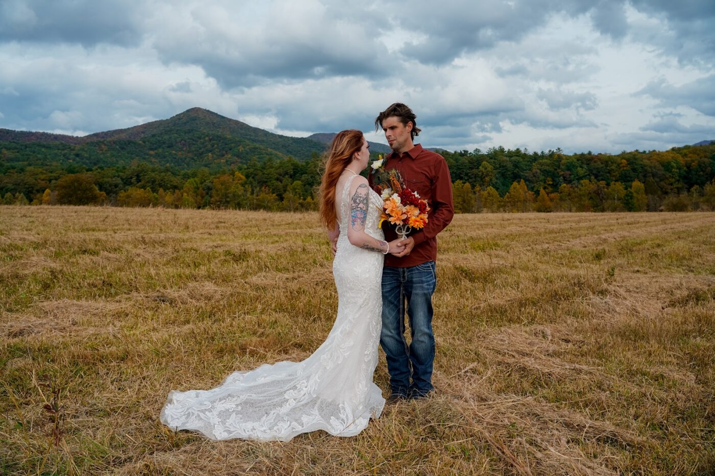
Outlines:
<svg viewBox="0 0 715 476"><path fill-rule="evenodd" d="M335 187L340 174L352 162L352 154L363 148L363 132L347 129L335 134L330 149L325 154L325 172L320 181L320 221L327 229L333 229L337 222L335 209Z"/></svg>

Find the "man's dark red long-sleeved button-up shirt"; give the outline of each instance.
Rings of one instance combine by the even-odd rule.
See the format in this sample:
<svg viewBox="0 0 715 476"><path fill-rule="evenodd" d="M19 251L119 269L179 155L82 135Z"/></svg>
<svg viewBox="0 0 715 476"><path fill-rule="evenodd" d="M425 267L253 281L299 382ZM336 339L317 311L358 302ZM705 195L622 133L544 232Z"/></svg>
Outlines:
<svg viewBox="0 0 715 476"><path fill-rule="evenodd" d="M427 200L430 211L427 224L420 231L413 230L410 237L415 239L415 247L407 256L401 258L388 254L385 266L406 268L417 266L437 259L437 234L441 232L454 216L452 202L452 179L444 157L423 149L420 144L400 155L392 152L385 157L385 170L398 169L405 180L405 185L420 197ZM368 176L370 187L373 175ZM397 238L395 227L383 222L385 239L388 242Z"/></svg>

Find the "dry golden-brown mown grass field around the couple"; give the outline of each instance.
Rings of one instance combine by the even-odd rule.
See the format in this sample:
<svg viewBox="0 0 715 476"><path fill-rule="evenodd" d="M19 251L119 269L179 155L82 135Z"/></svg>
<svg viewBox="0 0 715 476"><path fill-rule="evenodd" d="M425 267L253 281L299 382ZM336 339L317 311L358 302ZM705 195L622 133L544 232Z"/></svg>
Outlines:
<svg viewBox="0 0 715 476"><path fill-rule="evenodd" d="M432 398L352 438L159 423L169 390L307 357L331 260L317 214L0 207L0 474L715 472L713 213L458 215Z"/></svg>

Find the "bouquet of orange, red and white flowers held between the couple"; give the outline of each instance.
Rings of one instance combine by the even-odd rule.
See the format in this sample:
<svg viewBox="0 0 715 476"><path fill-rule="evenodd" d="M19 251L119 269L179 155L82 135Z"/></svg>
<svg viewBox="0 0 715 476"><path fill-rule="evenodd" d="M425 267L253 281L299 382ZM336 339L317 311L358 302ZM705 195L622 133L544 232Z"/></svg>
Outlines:
<svg viewBox="0 0 715 476"><path fill-rule="evenodd" d="M412 229L422 229L427 223L427 212L430 207L427 200L420 198L417 192L405 187L400 172L397 169L385 171L383 156L373 162L373 184L380 197L383 198L383 216L380 226L385 220L395 225L395 231L400 239L405 239Z"/></svg>

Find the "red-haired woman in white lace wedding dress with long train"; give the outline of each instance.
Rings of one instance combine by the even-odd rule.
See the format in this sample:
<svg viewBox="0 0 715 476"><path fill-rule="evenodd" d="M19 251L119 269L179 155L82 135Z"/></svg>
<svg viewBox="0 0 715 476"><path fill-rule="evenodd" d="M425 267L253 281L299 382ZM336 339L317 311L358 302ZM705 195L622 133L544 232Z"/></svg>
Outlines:
<svg viewBox="0 0 715 476"><path fill-rule="evenodd" d="M337 236L332 272L337 317L325 342L302 362L265 364L233 372L212 390L169 393L161 421L212 440L291 440L325 430L354 436L385 405L373 382L378 364L383 254L398 253L378 227L383 201L359 173L370 150L358 130L339 132L330 144L320 184L320 218Z"/></svg>

